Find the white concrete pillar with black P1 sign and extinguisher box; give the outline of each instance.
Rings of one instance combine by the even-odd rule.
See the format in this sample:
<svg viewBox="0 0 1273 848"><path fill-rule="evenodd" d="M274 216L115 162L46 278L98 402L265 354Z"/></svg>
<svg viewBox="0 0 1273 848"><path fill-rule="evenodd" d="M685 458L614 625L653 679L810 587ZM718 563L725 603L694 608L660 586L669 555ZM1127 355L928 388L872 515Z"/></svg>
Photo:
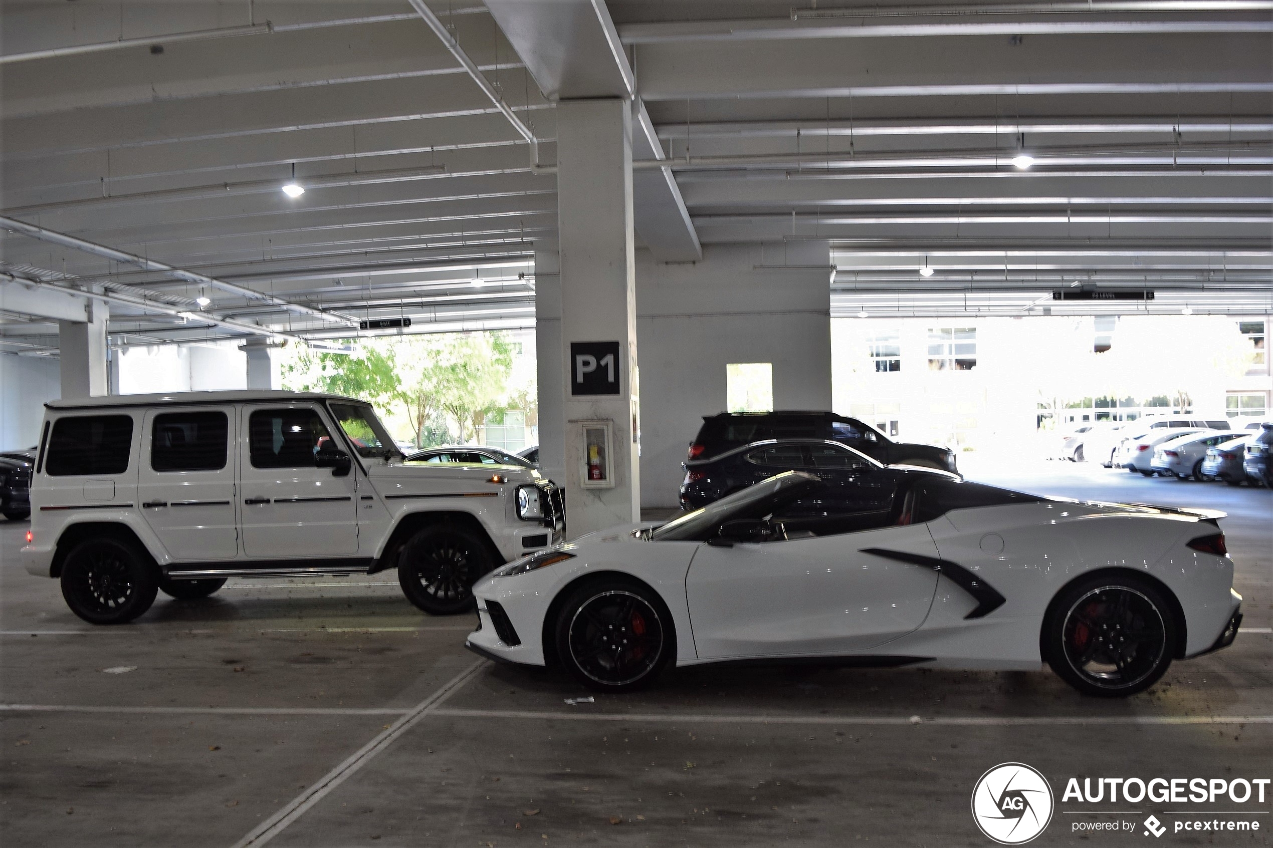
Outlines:
<svg viewBox="0 0 1273 848"><path fill-rule="evenodd" d="M633 267L631 111L621 99L561 100L558 238L566 523L570 537L640 520L636 304ZM575 374L572 345L601 351ZM606 346L615 345L608 364ZM545 351L547 355L547 351ZM584 394L605 373L614 392ZM544 420L542 416L540 418ZM586 422L608 426L608 487L587 486Z"/></svg>

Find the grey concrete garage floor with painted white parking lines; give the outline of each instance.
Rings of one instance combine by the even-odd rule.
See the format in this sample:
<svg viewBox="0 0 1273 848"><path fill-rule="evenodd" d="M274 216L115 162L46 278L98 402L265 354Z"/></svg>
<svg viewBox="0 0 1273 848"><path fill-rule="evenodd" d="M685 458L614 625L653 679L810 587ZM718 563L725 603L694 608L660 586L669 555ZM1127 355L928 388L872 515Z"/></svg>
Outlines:
<svg viewBox="0 0 1273 848"><path fill-rule="evenodd" d="M1273 492L964 465L1041 493L1227 510L1246 632L1120 702L1046 671L802 667L673 670L570 706L578 685L476 660L471 618L419 614L392 575L234 581L92 628L22 571L27 525L0 523L0 843L985 845L973 786L1017 760L1057 795L1036 844L1099 844L1129 837L1073 833L1111 816L1064 811L1111 807L1062 804L1069 777L1269 777ZM1183 817L1118 809L1133 807L1137 824ZM1237 809L1262 829L1165 840L1270 844L1273 800L1190 806Z"/></svg>

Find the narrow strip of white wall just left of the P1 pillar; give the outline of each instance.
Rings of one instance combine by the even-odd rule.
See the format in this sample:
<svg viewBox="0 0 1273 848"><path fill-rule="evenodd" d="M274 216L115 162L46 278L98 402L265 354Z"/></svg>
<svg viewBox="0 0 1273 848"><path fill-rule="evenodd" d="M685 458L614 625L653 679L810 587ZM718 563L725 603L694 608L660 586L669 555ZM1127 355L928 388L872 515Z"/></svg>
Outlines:
<svg viewBox="0 0 1273 848"><path fill-rule="evenodd" d="M558 243L535 244L535 370L540 395L540 467L565 484L565 378L561 376L561 277Z"/></svg>

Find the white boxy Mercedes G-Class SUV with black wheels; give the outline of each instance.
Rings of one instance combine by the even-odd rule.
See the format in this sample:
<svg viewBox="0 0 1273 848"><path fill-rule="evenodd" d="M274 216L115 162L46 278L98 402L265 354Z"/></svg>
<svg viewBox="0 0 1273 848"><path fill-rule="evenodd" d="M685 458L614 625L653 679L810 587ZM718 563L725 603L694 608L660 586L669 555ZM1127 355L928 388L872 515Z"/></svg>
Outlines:
<svg viewBox="0 0 1273 848"><path fill-rule="evenodd" d="M491 568L561 540L561 492L531 468L409 463L372 407L295 392L46 404L22 556L94 624L228 577L397 568L426 613L472 608Z"/></svg>

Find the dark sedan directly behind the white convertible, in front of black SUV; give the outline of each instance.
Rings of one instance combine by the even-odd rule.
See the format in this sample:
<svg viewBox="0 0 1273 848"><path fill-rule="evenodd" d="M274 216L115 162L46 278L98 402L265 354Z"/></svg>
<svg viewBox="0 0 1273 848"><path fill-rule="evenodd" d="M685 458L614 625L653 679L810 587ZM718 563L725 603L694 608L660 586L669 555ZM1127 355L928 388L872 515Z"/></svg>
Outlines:
<svg viewBox="0 0 1273 848"><path fill-rule="evenodd" d="M826 498L844 511L887 509L905 465L887 467L825 439L770 439L685 463L681 509L696 510L782 472L801 470L826 483ZM934 472L937 469L933 469ZM959 478L952 472L943 472ZM899 477L901 475L901 477Z"/></svg>

